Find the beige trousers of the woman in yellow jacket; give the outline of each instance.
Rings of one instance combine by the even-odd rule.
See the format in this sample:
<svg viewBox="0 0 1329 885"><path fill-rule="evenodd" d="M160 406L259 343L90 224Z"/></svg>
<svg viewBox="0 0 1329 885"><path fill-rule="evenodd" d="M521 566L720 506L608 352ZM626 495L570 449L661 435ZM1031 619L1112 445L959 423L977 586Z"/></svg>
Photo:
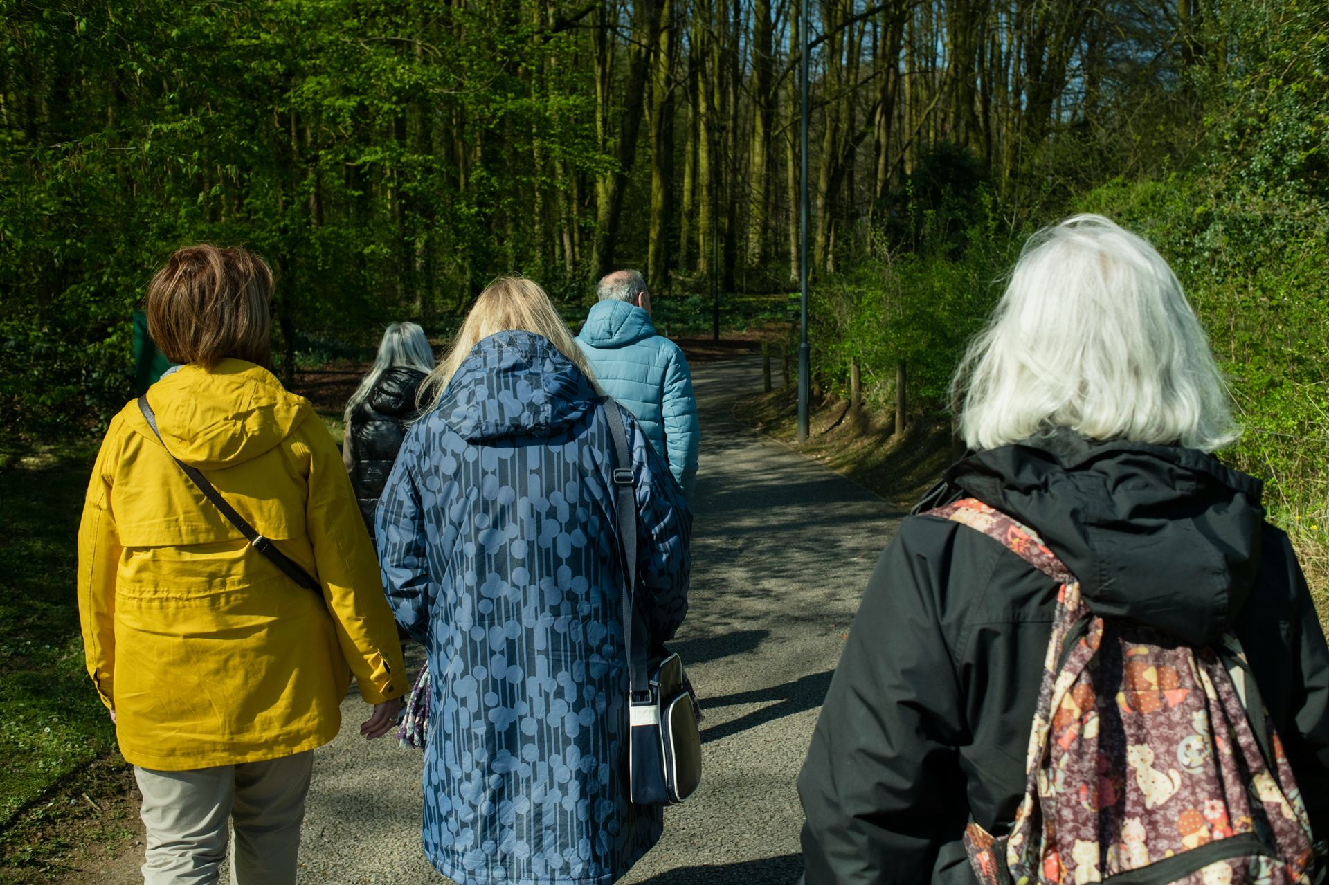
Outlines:
<svg viewBox="0 0 1329 885"><path fill-rule="evenodd" d="M226 858L234 885L294 885L314 752L239 765L152 771L134 765L148 828L144 885L214 885Z"/></svg>

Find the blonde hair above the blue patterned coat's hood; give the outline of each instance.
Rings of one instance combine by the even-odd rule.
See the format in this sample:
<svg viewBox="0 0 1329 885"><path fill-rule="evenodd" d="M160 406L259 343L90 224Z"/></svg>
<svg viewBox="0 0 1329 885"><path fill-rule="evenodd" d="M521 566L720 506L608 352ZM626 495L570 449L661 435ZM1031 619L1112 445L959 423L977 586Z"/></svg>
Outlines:
<svg viewBox="0 0 1329 885"><path fill-rule="evenodd" d="M532 332L544 335L554 348L579 368L595 392L602 392L586 355L577 347L567 323L538 283L524 276L500 276L485 286L474 307L466 314L443 361L429 372L420 385L419 403L423 411L433 411L443 400L448 383L470 356L476 344L497 332ZM428 405L425 405L428 404Z"/></svg>

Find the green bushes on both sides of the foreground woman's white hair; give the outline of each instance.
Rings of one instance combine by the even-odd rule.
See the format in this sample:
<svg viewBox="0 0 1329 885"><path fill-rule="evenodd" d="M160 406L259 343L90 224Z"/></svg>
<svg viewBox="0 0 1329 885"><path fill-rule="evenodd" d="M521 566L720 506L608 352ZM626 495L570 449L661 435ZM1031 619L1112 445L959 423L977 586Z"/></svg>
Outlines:
<svg viewBox="0 0 1329 885"><path fill-rule="evenodd" d="M1203 35L1207 57L1180 73L1176 94L1203 128L1154 142L1128 166L1179 170L1119 175L1088 193L1070 178L1001 210L982 197L962 151L936 151L892 199L877 245L815 298L816 369L843 393L859 360L868 393L890 392L909 365L910 401L941 407L965 342L999 295L1027 230L1095 211L1152 242L1176 270L1231 377L1245 427L1227 456L1268 480L1267 502L1316 543L1329 529L1329 33L1312 3L1228 4ZM1070 132L1030 161L1127 157ZM1082 181L1091 175L1080 171ZM979 198L964 186L978 187ZM1061 193L1059 201L1050 194ZM957 199L957 194L960 195ZM1011 201L1013 194L1005 194ZM889 408L889 403L882 403ZM1313 528L1312 528L1313 526Z"/></svg>

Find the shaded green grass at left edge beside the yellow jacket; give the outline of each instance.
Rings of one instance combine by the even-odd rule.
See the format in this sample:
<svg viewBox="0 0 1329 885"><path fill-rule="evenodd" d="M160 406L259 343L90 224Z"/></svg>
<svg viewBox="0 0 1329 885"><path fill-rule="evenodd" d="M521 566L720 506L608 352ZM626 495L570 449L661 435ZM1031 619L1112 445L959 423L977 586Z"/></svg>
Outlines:
<svg viewBox="0 0 1329 885"><path fill-rule="evenodd" d="M62 781L125 765L78 634L74 541L94 456L92 442L0 450L0 868L66 848L21 836Z"/></svg>

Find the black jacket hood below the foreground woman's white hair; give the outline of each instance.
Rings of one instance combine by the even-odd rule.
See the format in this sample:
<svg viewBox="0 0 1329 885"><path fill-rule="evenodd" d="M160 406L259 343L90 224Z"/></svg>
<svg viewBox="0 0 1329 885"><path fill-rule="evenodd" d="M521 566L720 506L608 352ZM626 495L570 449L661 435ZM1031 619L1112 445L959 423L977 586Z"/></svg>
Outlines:
<svg viewBox="0 0 1329 885"><path fill-rule="evenodd" d="M1261 482L1211 454L1062 431L973 454L946 480L1033 526L1096 614L1203 644L1251 595Z"/></svg>

